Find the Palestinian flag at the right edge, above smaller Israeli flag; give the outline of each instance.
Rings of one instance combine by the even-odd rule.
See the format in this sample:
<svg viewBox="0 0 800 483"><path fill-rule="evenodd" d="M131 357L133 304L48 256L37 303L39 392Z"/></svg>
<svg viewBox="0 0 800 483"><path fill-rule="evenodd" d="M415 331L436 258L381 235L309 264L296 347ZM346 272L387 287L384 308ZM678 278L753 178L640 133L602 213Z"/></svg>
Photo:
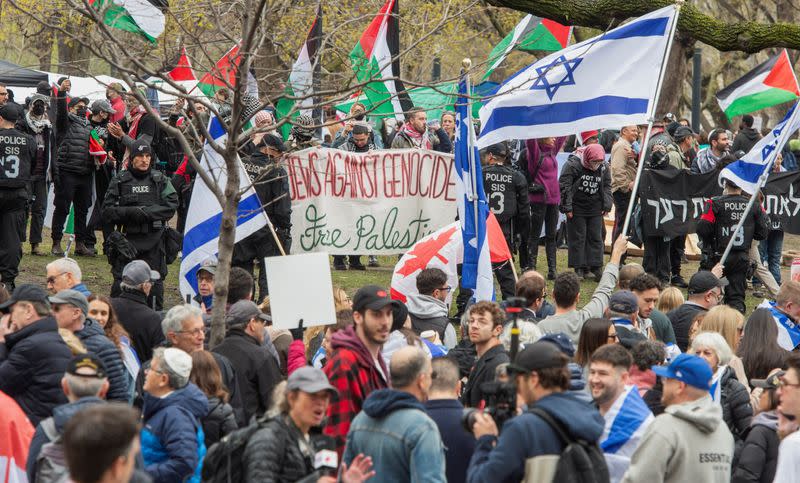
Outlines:
<svg viewBox="0 0 800 483"><path fill-rule="evenodd" d="M800 97L786 49L717 93L719 107L733 119Z"/></svg>

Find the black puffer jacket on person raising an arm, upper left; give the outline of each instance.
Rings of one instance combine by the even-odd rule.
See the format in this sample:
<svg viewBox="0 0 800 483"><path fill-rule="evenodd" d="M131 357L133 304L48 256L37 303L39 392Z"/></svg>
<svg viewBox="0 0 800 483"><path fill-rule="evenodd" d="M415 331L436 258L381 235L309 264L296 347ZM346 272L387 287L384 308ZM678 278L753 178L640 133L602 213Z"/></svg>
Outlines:
<svg viewBox="0 0 800 483"><path fill-rule="evenodd" d="M92 127L87 119L81 119L67 111L65 93L59 92L56 113L56 165L61 173L86 175L94 167L89 156L89 135Z"/></svg>

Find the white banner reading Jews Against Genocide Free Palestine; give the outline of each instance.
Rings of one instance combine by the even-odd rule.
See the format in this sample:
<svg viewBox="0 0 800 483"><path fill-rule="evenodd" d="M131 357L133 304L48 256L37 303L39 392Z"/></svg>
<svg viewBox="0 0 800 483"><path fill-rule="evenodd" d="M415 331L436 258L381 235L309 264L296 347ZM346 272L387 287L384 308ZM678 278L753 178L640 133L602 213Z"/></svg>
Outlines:
<svg viewBox="0 0 800 483"><path fill-rule="evenodd" d="M311 148L286 155L283 163L294 253L405 253L456 218L451 154Z"/></svg>

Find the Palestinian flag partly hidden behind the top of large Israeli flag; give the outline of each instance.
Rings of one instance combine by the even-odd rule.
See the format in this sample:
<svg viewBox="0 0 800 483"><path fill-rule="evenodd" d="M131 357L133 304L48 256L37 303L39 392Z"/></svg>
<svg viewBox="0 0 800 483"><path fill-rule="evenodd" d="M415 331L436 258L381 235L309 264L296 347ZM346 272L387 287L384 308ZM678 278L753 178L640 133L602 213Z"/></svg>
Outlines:
<svg viewBox="0 0 800 483"><path fill-rule="evenodd" d="M526 15L489 53L483 80L492 75L512 50L555 52L567 46L571 33L572 27L566 27L546 18Z"/></svg>

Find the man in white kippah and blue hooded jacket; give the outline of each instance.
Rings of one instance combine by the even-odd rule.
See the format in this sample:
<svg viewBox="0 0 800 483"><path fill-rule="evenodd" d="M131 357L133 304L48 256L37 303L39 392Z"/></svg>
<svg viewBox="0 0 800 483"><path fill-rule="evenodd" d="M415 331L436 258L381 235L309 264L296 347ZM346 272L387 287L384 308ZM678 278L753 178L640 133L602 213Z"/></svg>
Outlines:
<svg viewBox="0 0 800 483"><path fill-rule="evenodd" d="M153 481L199 481L208 398L189 382L192 357L159 347L144 381L142 456Z"/></svg>

